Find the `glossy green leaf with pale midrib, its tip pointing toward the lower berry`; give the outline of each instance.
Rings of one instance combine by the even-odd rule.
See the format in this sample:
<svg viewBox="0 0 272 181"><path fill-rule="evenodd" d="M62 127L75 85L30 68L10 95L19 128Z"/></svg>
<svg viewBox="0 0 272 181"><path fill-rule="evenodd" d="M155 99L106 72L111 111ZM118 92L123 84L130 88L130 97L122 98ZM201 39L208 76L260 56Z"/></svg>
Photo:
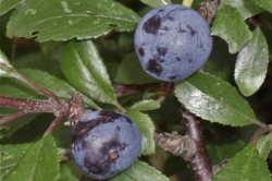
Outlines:
<svg viewBox="0 0 272 181"><path fill-rule="evenodd" d="M69 82L86 96L118 105L103 61L91 40L64 44L61 69Z"/></svg>

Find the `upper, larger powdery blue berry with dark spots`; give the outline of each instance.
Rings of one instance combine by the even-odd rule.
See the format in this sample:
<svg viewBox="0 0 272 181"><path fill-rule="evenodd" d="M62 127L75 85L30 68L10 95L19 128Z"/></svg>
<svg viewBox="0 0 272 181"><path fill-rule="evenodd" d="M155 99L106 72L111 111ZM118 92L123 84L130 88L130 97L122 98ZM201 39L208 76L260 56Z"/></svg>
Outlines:
<svg viewBox="0 0 272 181"><path fill-rule="evenodd" d="M184 80L209 58L212 37L207 22L193 9L163 5L139 22L134 47L144 70L168 82Z"/></svg>

